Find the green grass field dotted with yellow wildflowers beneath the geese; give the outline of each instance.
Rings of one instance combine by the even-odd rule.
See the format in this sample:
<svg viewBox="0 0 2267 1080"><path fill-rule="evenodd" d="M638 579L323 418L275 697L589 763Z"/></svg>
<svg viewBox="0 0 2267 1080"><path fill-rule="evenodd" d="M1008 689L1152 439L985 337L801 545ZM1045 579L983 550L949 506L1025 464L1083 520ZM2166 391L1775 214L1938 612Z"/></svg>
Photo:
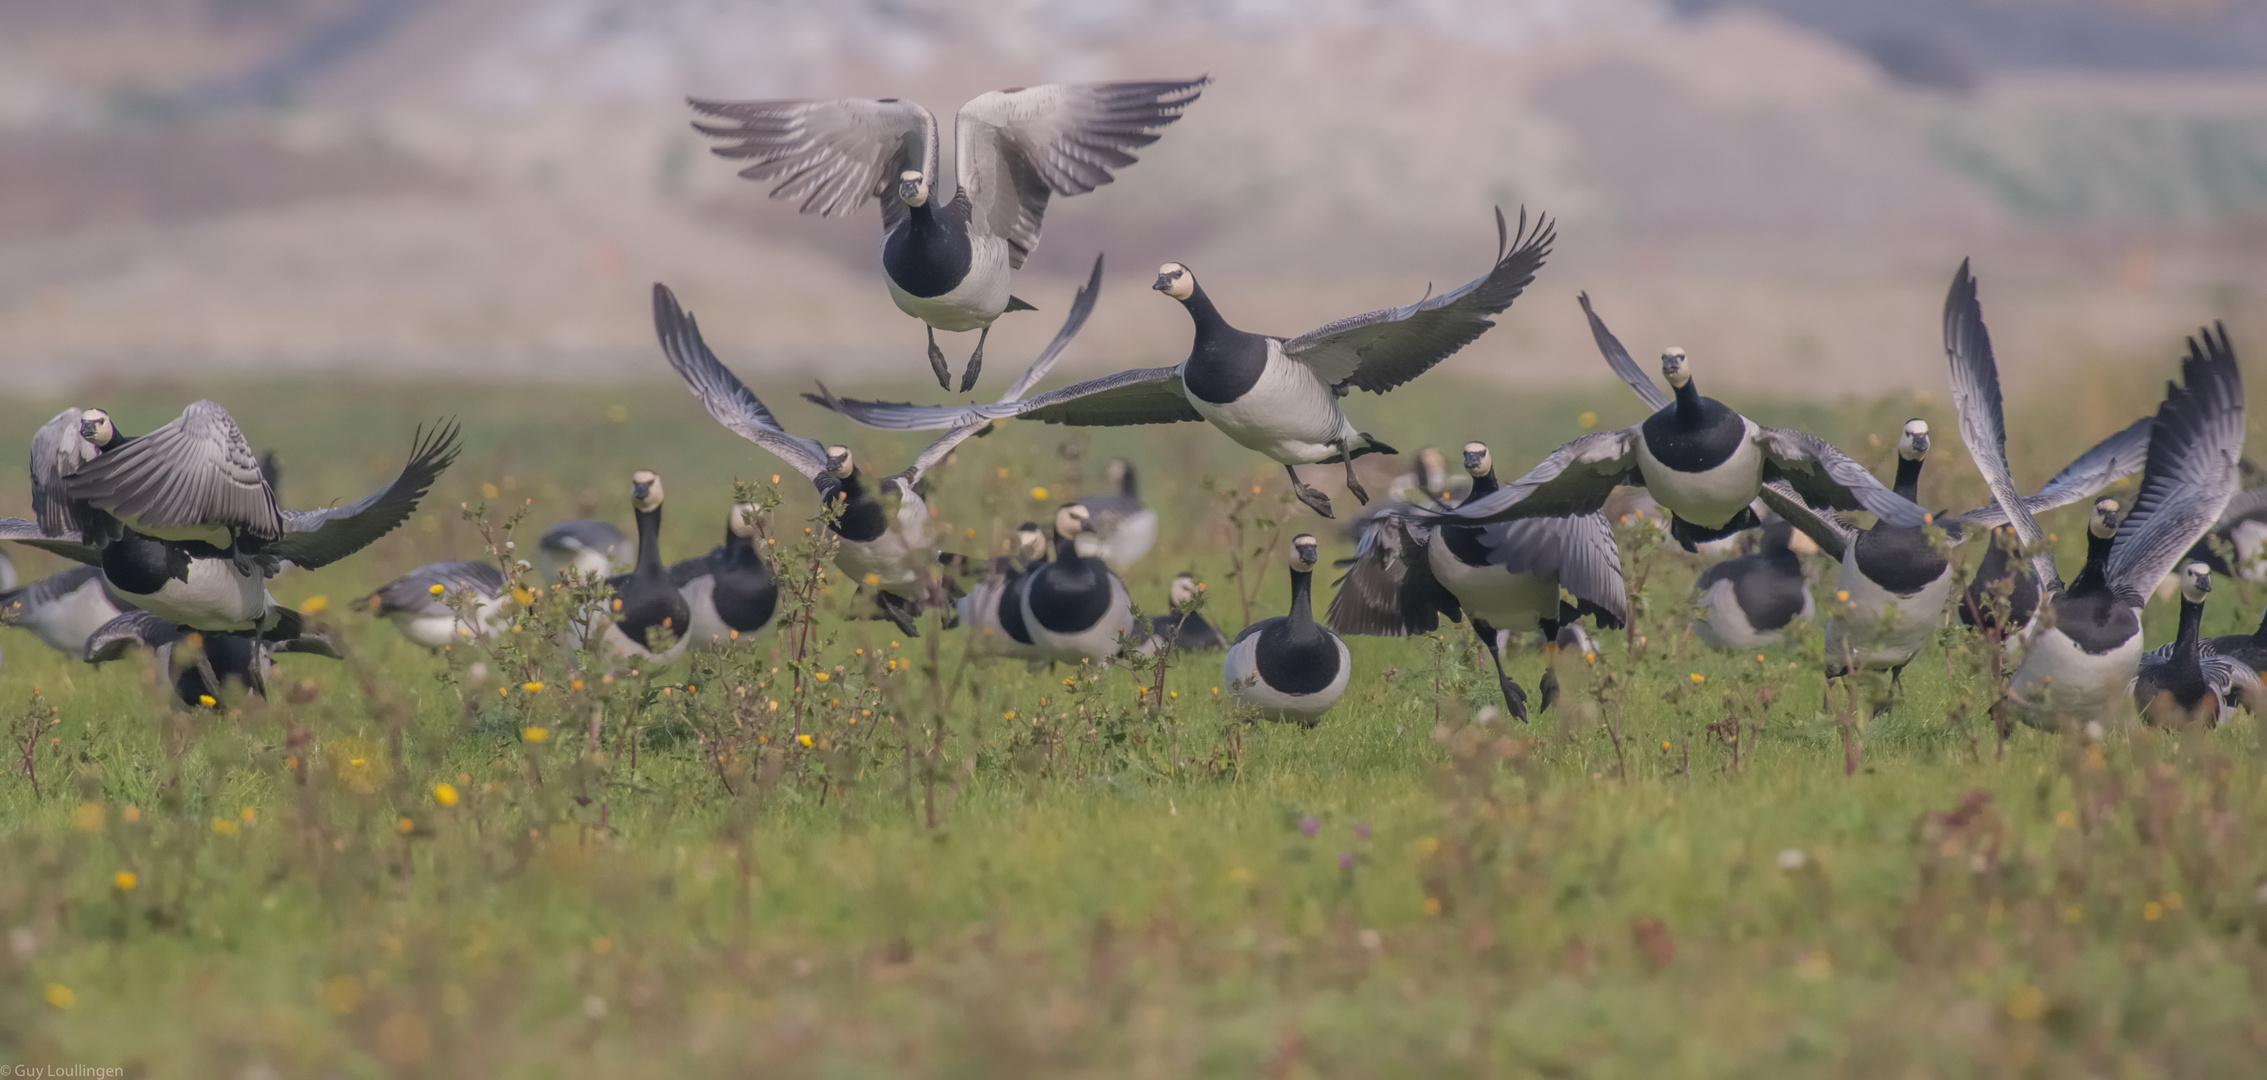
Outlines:
<svg viewBox="0 0 2267 1080"><path fill-rule="evenodd" d="M2151 408L2167 372L2095 372L2052 411L2011 388L2018 476ZM871 467L918 445L757 388ZM438 415L467 422L467 454L404 531L277 581L286 604L322 597L349 658L283 658L274 701L177 712L143 660L91 669L0 635L0 1066L2140 1078L2251 1075L2267 1055L2249 717L2002 744L1986 649L1961 631L1893 712L1868 717L1877 683L1827 710L1816 633L1700 649L1693 565L1641 542L1637 624L1569 658L1569 701L1526 726L1478 719L1494 678L1458 626L1349 640L1344 701L1299 731L1224 708L1217 653L1163 683L970 665L959 631L843 619L848 592L814 594L807 635L580 685L540 633L515 635L474 685L469 649L428 656L354 606L413 565L476 558L460 506L494 526L526 511L526 547L560 517L626 524L628 474L651 467L682 558L721 533L735 479L769 486L778 463L662 381L79 404L145 431L197 395L281 454L290 506L383 483ZM5 404L0 431L29 438L61 404ZM1943 395L1734 404L1877 470L1925 415L1922 504L1981 499ZM1580 413L1619 424L1637 404L1437 377L1349 411L1403 449L1487 438L1517 472ZM1152 610L1188 567L1215 622L1240 624L1240 590L1279 613L1290 531L1351 554L1285 506L1276 467L1195 424L970 442L936 474L939 535L1000 551L1118 454L1165 517L1129 576ZM784 481L773 533L807 579L814 499ZM23 499L11 486L0 508ZM2047 522L2065 567L2081 515ZM1832 567L1818 588L1829 601ZM2222 588L2206 631L2249 628L2258 604ZM2172 615L2151 608L2151 644ZM1532 687L1542 665L1526 649L1514 676Z"/></svg>

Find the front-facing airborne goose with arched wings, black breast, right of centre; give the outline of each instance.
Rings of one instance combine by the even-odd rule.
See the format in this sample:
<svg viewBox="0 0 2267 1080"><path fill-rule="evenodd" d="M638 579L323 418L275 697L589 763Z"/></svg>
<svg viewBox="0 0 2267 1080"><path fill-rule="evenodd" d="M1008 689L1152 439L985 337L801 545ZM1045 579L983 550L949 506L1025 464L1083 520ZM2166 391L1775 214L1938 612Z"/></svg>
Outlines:
<svg viewBox="0 0 2267 1080"><path fill-rule="evenodd" d="M1827 440L1784 427L1761 427L1714 397L1700 397L1684 349L1662 352L1662 377L1675 399L1655 388L1589 309L1591 338L1621 381L1630 383L1650 417L1625 431L1582 436L1551 452L1526 476L1455 511L1421 513L1426 522L1485 524L1517 517L1560 517L1605 506L1614 486L1644 486L1673 517L1669 533L1691 551L1705 540L1761 524L1748 506L1761 499L1782 517L1802 504L1834 511L1873 511L1895 526L1927 522L1920 506L1897 497L1863 465ZM1766 486L1786 481L1786 492ZM1786 506L1795 495L1793 506Z"/></svg>

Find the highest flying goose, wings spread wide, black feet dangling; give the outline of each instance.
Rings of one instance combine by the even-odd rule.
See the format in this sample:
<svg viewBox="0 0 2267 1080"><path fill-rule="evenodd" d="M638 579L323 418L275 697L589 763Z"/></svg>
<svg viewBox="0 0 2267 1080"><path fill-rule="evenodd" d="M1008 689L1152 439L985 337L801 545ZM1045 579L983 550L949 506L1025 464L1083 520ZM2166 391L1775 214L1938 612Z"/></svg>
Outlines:
<svg viewBox="0 0 2267 1080"><path fill-rule="evenodd" d="M952 388L936 331L982 331L961 372L977 383L984 338L1007 311L1009 272L1038 247L1050 195L1084 195L1131 166L1134 150L1181 118L1208 77L1179 82L1088 82L993 91L961 107L954 168L939 163L936 116L884 100L691 100L694 129L723 141L719 157L750 159L739 175L780 179L773 197L803 213L852 213L882 202L882 272L898 311L929 324L929 368Z"/></svg>

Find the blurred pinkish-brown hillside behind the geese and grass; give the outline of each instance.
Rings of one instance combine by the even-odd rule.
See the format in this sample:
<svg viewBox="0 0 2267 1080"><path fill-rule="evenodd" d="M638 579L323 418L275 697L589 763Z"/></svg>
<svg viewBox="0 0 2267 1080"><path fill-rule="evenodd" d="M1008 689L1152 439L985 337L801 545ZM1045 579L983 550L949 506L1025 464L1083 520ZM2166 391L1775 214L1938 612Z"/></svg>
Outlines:
<svg viewBox="0 0 2267 1080"><path fill-rule="evenodd" d="M2256 0L0 0L0 372L657 377L660 279L750 379L905 374L875 213L766 200L682 98L1192 73L995 365L1097 250L1079 370L1181 356L1165 259L1292 334L1476 275L1492 204L1560 245L1471 379L1603 374L1587 288L1709 386L1938 388L1961 256L2015 379L2260 340Z"/></svg>

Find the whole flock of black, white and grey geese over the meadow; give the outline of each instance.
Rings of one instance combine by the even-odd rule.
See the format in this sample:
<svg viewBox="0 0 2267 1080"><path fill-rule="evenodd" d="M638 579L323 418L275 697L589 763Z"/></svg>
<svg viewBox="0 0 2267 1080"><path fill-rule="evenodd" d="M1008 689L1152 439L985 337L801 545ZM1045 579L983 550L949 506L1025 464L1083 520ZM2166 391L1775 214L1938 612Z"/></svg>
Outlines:
<svg viewBox="0 0 2267 1080"><path fill-rule="evenodd" d="M941 166L936 118L907 100L691 107L703 116L694 127L719 141L716 154L748 161L744 177L771 182L771 195L803 213L843 216L880 202L889 295L925 322L932 374L945 390L952 379L936 331L979 331L959 377L966 395L991 324L1036 311L1011 293L1011 277L1038 245L1047 202L1109 184L1206 82L986 93L957 116L954 172ZM1444 454L1424 449L1415 490L1372 504L1356 458L1396 452L1347 415L1349 395L1394 390L1474 343L1535 281L1553 243L1548 218L1521 211L1508 222L1496 211L1496 254L1480 277L1288 338L1238 329L1195 270L1165 263L1152 288L1188 313L1181 363L1034 393L1093 313L1097 256L1056 336L995 402L866 402L823 383L805 395L864 427L939 431L886 476L850 447L789 433L662 284L653 286L653 322L662 354L703 408L814 486L834 569L855 583L864 610L907 635L939 610L936 626L963 626L973 649L1000 658L1099 665L1127 651L1224 651L1222 676L1238 701L1272 719L1315 724L1351 674L1340 635L1428 633L1446 617L1471 624L1508 710L1528 717L1528 694L1505 674L1503 651L1530 633L1546 649L1587 651L1582 619L1623 626L1630 599L1614 522L1644 515L1684 551L1755 547L1700 574L1693 631L1716 649L1748 651L1809 626L1820 604L1805 556L1836 560L1823 619L1829 687L1861 669L1886 669L1897 687L1929 638L1959 619L2015 649L2006 697L2038 726L2092 719L2124 701L2151 722L2217 724L2262 692L2256 672L2267 663L2267 622L2256 635L2199 638L2213 572L2258 579L2267 549L2267 495L2242 492L2242 374L2226 331L2190 338L2181 381L2167 386L2154 415L2024 495L2006 465L1997 370L1965 263L1945 299L1943 336L1961 440L1993 492L1986 506L1931 515L1916 501L1929 454L1922 420L1897 433L1897 470L1884 483L1818 436L1764 427L1703 397L1682 349L1662 352L1662 390L1587 295L1578 302L1591 338L1650 411L1641 422L1576 438L1517 479L1496 474L1485 442L1462 447L1469 483L1449 474ZM927 474L1007 420L1204 422L1283 465L1290 490L1322 517L1333 517L1333 504L1301 481L1299 465L1342 467L1365 511L1328 610L1322 619L1313 610L1319 540L1299 533L1285 551L1285 615L1231 638L1204 619L1202 585L1181 574L1168 615L1136 619L1118 574L1149 551L1158 520L1122 461L1111 465L1111 492L1059 506L1047 526L1022 524L1004 556L977 563L939 551L927 535ZM91 663L134 644L170 653L195 640L195 663L163 660L190 706L211 708L229 678L261 692L274 651L338 653L299 613L274 604L268 581L347 558L399 526L456 452L456 427L419 431L394 483L349 506L302 513L277 506L272 472L213 402L145 436L118 431L102 408L70 408L32 438L34 520L0 522L0 540L84 567L9 588L0 613ZM2095 504L2086 565L2065 583L2036 517L2133 472L2142 474L2133 504ZM662 501L662 479L637 472L635 535L605 522L562 522L540 540L540 574L610 590L578 644L603 640L617 658L669 663L689 647L748 640L780 613L753 506L728 508L719 547L664 565ZM1970 538L1984 538L1984 556L1970 585L1954 590L1956 549ZM506 567L426 565L365 604L431 649L478 640L512 619ZM2145 653L2142 606L2174 569L2179 635ZM1539 708L1555 694L1546 667Z"/></svg>

